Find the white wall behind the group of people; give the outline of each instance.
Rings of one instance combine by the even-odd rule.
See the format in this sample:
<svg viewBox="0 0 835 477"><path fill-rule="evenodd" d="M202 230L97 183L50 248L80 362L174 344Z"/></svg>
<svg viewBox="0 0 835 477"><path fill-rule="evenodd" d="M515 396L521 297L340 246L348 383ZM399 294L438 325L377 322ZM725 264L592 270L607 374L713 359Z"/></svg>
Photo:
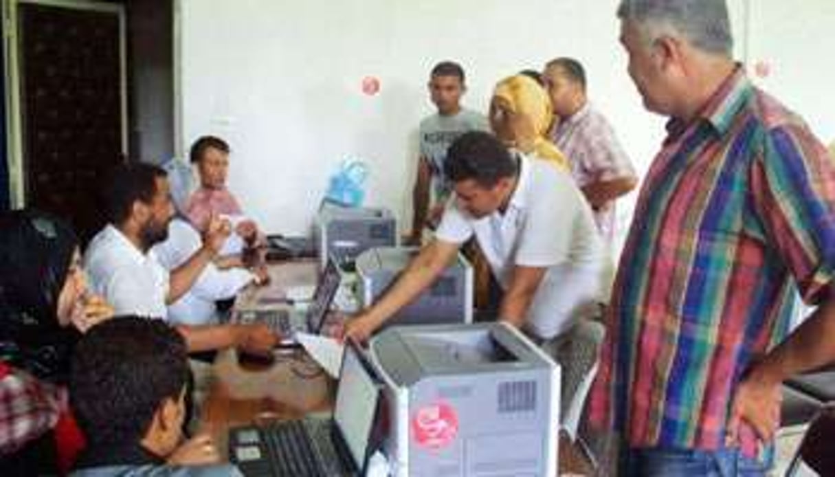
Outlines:
<svg viewBox="0 0 835 477"><path fill-rule="evenodd" d="M433 110L426 92L433 63L463 63L465 103L484 111L498 79L539 69L549 58L574 56L588 69L593 101L610 116L643 173L663 139L663 119L641 107L626 74L617 3L180 0L179 147L187 150L200 134L230 140L230 187L267 231L305 231L328 175L354 155L372 166L368 203L390 206L409 220L417 123ZM746 41L748 3L751 22L762 22L751 28L757 41ZM749 56L768 53L779 67L764 82L767 89L835 138L827 119L835 95L824 88L832 75L820 74L832 69L822 58L833 51L833 35L830 43L812 47L799 37L807 15L825 13L835 24L835 3L729 0L729 7L737 56L746 57L746 49ZM787 18L802 20L791 26ZM808 56L810 48L816 57ZM362 94L367 75L381 79L377 96ZM635 195L620 207L621 230Z"/></svg>

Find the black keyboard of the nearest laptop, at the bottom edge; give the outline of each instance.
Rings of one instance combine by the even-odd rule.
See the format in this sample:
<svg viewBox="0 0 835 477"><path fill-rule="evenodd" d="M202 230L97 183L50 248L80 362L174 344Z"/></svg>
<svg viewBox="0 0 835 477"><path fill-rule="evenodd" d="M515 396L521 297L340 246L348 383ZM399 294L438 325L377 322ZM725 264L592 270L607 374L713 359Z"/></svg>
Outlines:
<svg viewBox="0 0 835 477"><path fill-rule="evenodd" d="M305 424L301 421L279 424L264 434L273 460L273 469L278 475L328 475L316 461L316 450L311 443L311 436L308 436Z"/></svg>

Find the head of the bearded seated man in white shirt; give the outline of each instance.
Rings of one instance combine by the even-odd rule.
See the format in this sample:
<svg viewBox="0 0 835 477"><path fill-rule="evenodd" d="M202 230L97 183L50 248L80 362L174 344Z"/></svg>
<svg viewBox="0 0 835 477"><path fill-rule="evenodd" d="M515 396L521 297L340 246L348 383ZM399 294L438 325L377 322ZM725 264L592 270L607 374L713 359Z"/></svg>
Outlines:
<svg viewBox="0 0 835 477"><path fill-rule="evenodd" d="M165 171L138 162L120 165L109 184L109 220L140 248L148 250L168 238L168 223L174 216L170 185Z"/></svg>

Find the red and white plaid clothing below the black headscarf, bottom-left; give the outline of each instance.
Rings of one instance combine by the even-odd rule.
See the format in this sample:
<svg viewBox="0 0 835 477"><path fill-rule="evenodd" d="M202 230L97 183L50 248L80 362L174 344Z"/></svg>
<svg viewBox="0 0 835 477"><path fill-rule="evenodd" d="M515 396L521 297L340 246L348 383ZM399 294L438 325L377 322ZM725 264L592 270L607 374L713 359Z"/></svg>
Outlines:
<svg viewBox="0 0 835 477"><path fill-rule="evenodd" d="M66 409L62 388L0 363L0 455L53 429Z"/></svg>

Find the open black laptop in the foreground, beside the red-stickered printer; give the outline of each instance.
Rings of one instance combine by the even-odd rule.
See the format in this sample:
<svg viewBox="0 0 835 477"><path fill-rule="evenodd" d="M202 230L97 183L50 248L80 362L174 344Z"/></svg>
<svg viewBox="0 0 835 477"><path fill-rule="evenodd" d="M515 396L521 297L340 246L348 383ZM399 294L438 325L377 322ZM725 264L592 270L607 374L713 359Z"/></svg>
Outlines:
<svg viewBox="0 0 835 477"><path fill-rule="evenodd" d="M371 364L349 342L333 416L230 429L230 461L247 477L364 475L382 443L381 395Z"/></svg>

